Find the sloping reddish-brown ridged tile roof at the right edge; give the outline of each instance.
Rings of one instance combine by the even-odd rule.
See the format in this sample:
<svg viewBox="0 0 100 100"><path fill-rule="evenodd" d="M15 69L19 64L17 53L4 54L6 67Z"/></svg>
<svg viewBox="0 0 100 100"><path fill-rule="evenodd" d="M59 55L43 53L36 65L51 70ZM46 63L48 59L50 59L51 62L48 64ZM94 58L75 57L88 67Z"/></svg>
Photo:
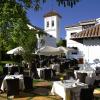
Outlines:
<svg viewBox="0 0 100 100"><path fill-rule="evenodd" d="M73 34L71 39L94 38L94 37L100 37L100 24L90 27L79 33Z"/></svg>

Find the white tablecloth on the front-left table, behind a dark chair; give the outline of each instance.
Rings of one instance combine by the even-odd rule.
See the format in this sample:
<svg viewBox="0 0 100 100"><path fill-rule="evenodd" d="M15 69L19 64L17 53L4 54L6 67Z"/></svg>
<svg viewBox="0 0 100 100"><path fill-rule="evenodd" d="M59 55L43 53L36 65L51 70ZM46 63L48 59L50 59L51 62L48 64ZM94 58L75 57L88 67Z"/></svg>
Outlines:
<svg viewBox="0 0 100 100"><path fill-rule="evenodd" d="M1 90L4 91L5 89L7 89L7 82L6 79L14 79L14 78L18 78L19 79L19 88L20 90L24 90L25 86L24 86L24 79L23 79L23 75L6 75L2 85L1 85Z"/></svg>

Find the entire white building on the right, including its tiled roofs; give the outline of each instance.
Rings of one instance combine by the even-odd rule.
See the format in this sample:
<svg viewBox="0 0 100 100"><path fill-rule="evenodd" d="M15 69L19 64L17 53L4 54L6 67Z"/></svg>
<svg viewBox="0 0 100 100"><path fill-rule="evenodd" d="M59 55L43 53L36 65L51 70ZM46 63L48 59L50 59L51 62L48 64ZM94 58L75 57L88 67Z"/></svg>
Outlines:
<svg viewBox="0 0 100 100"><path fill-rule="evenodd" d="M65 30L67 47L77 47L84 63L100 60L100 18L67 26Z"/></svg>

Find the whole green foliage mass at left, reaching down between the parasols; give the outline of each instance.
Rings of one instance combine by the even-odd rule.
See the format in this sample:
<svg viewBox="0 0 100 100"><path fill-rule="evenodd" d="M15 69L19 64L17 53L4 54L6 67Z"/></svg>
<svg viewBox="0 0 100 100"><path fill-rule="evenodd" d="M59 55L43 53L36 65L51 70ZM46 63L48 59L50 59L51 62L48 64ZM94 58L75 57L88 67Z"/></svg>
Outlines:
<svg viewBox="0 0 100 100"><path fill-rule="evenodd" d="M23 58L30 61L38 32L30 30L28 23L26 9L22 5L14 0L0 2L0 48L7 51L22 46L25 50Z"/></svg>

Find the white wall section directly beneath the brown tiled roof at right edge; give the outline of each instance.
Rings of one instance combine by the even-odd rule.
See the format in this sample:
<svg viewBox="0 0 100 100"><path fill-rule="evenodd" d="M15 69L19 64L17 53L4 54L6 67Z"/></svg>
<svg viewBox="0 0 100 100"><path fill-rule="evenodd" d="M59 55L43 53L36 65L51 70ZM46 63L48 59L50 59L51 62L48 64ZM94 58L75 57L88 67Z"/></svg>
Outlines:
<svg viewBox="0 0 100 100"><path fill-rule="evenodd" d="M83 40L84 60L93 63L95 59L100 60L100 39L84 39Z"/></svg>

